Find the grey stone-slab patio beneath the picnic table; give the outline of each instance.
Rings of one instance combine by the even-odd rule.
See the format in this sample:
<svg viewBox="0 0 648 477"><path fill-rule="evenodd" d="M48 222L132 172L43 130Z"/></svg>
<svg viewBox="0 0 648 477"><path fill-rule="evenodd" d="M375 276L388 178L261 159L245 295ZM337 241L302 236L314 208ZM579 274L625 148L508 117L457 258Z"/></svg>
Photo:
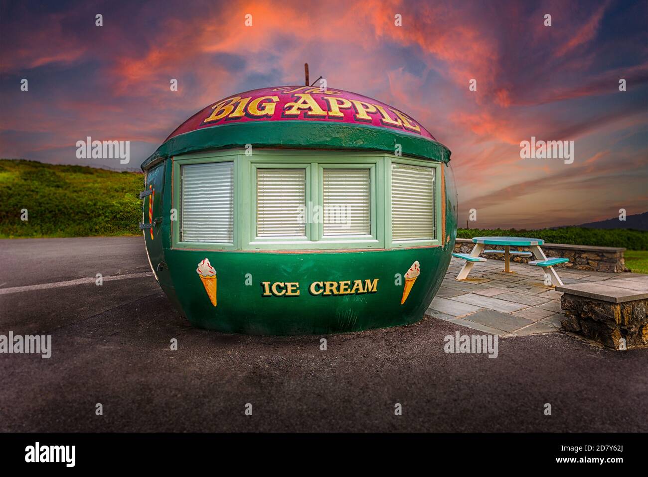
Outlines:
<svg viewBox="0 0 648 477"><path fill-rule="evenodd" d="M502 260L488 260L476 263L467 280L455 280L463 263L452 258L426 315L502 337L555 333L561 328L562 293L544 284L542 268L511 262L513 273L505 273ZM556 271L564 284L645 276L561 267Z"/></svg>

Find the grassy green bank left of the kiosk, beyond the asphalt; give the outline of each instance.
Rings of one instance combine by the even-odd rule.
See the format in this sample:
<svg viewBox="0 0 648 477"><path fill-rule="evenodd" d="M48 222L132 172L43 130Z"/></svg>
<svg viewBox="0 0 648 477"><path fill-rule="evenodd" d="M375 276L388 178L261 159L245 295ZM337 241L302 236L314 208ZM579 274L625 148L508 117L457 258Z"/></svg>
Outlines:
<svg viewBox="0 0 648 477"><path fill-rule="evenodd" d="M2 159L0 238L141 234L143 181L133 172Z"/></svg>

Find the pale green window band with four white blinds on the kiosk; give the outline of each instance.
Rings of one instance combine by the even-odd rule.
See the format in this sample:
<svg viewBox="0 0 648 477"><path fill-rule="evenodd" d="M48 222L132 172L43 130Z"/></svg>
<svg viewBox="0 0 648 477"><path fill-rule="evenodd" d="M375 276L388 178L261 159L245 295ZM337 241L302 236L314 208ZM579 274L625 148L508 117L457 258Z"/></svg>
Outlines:
<svg viewBox="0 0 648 477"><path fill-rule="evenodd" d="M439 162L386 153L242 149L173 158L173 249L438 246ZM157 199L157 191L156 191Z"/></svg>

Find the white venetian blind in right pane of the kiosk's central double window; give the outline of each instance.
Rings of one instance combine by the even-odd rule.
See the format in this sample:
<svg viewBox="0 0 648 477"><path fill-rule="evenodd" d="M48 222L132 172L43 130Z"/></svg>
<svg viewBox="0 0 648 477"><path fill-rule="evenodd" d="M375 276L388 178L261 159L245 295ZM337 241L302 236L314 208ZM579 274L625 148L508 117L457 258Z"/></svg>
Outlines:
<svg viewBox="0 0 648 477"><path fill-rule="evenodd" d="M323 234L370 235L369 169L323 169Z"/></svg>

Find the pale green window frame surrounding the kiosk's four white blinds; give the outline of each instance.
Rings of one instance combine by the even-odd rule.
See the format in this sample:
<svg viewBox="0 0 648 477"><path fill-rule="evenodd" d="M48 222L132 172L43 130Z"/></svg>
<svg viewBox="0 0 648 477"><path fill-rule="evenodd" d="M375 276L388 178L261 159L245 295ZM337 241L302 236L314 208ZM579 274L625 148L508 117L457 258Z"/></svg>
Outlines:
<svg viewBox="0 0 648 477"><path fill-rule="evenodd" d="M172 248L192 250L336 250L336 249L399 249L441 245L441 163L429 160L404 158L384 153L356 153L349 151L283 151L259 149L252 155L244 149L214 151L211 153L185 154L172 159L172 208L178 210L178 220L172 222ZM188 243L178 240L181 219L180 204L180 166L183 164L203 164L207 162L234 162L234 243ZM391 164L419 165L433 167L435 238L431 240L391 240ZM305 239L277 240L257 239L256 232L256 169L257 167L302 167L307 169L307 201L323 204L323 169L361 169L371 170L371 238L366 236L343 238L323 238L321 224L306 224ZM253 182L254 181L254 182Z"/></svg>

